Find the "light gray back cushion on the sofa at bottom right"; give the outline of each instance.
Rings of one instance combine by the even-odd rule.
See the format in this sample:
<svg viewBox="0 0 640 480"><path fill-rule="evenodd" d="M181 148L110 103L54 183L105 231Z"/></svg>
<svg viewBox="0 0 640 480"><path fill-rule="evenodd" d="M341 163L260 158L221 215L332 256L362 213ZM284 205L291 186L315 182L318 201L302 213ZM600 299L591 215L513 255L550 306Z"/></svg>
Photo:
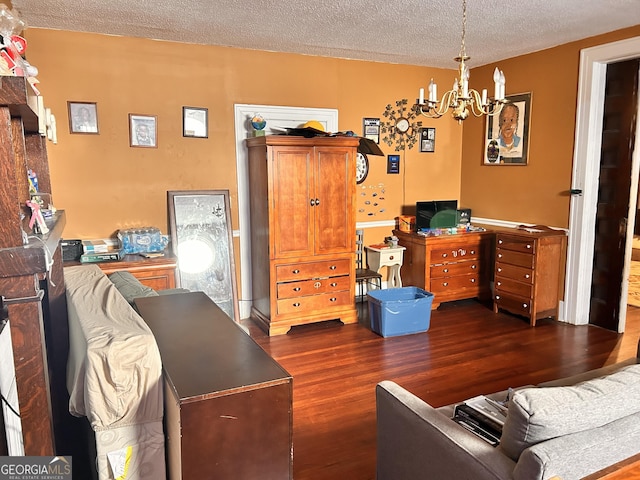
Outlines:
<svg viewBox="0 0 640 480"><path fill-rule="evenodd" d="M525 388L509 402L500 448L518 460L526 448L640 412L640 365L574 386Z"/></svg>

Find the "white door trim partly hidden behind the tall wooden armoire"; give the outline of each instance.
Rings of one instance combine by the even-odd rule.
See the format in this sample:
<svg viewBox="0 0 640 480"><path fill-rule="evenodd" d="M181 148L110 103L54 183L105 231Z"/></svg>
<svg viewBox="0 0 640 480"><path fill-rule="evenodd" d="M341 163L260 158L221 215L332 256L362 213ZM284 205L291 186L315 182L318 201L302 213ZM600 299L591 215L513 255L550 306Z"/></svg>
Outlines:
<svg viewBox="0 0 640 480"><path fill-rule="evenodd" d="M330 108L280 107L274 105L235 104L236 175L238 181L238 217L240 223L240 278L241 296L238 301L240 318L251 313L251 234L249 218L249 170L245 139L253 129L249 120L260 113L267 121L265 133L280 133L272 127L297 127L308 120L317 120L327 132L338 131L338 110Z"/></svg>

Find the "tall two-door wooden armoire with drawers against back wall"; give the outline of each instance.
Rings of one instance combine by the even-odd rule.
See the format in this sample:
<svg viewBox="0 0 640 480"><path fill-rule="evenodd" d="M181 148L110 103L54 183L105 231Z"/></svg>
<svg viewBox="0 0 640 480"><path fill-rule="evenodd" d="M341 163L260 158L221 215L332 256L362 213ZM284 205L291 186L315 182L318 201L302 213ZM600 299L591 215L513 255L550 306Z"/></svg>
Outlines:
<svg viewBox="0 0 640 480"><path fill-rule="evenodd" d="M353 137L247 140L252 317L269 334L358 321Z"/></svg>

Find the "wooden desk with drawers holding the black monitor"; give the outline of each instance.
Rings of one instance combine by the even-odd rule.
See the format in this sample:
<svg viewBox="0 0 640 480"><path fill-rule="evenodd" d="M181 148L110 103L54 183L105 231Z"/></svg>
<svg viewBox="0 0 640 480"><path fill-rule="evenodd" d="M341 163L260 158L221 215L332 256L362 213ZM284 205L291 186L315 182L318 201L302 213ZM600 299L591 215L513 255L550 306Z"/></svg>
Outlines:
<svg viewBox="0 0 640 480"><path fill-rule="evenodd" d="M402 283L434 294L432 308L465 298L491 298L493 232L427 237L394 230L406 248Z"/></svg>

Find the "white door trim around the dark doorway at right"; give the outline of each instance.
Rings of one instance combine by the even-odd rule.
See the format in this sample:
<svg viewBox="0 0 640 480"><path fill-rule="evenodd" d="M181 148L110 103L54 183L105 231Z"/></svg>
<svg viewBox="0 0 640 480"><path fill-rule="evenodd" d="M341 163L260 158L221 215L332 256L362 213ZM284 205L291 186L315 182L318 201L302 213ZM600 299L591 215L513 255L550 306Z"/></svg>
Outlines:
<svg viewBox="0 0 640 480"><path fill-rule="evenodd" d="M638 56L640 37L599 45L580 52L571 188L582 190L582 195L571 197L564 294L566 310L562 315L565 321L575 325L589 323L607 64ZM622 316L623 310L621 309ZM621 331L624 331L623 318L620 325Z"/></svg>

